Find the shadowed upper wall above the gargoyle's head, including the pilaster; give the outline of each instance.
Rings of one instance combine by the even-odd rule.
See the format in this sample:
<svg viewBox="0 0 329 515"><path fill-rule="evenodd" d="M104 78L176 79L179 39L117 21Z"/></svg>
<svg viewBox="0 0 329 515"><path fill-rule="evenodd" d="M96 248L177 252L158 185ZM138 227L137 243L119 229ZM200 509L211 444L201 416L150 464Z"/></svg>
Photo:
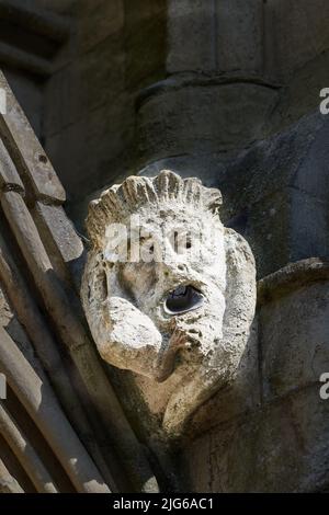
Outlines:
<svg viewBox="0 0 329 515"><path fill-rule="evenodd" d="M317 108L329 80L324 0L30 5L67 16L70 38L46 80L7 67L8 78L80 227L89 198L115 178L178 153L190 161L202 153L207 162L219 151L215 160L225 167L228 151L235 154ZM145 102L145 93L138 100L145 87L186 73L189 88L175 85L174 92L169 83L159 100ZM218 171L211 168L214 178Z"/></svg>

